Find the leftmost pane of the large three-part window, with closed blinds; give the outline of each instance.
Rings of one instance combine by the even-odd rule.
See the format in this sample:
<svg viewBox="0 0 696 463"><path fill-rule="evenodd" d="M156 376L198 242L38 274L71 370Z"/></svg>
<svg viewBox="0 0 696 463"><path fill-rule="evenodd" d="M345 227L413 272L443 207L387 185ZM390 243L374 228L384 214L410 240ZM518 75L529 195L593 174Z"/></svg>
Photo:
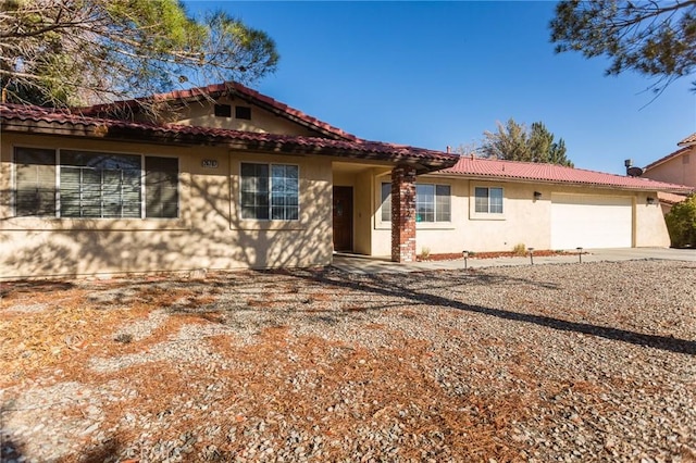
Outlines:
<svg viewBox="0 0 696 463"><path fill-rule="evenodd" d="M17 148L15 164L15 214L55 216L55 151Z"/></svg>

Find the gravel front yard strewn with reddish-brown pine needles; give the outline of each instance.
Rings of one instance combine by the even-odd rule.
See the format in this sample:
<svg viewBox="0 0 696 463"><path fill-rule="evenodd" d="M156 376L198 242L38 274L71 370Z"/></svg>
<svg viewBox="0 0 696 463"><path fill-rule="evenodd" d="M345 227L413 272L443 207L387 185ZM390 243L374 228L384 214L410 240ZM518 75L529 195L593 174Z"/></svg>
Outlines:
<svg viewBox="0 0 696 463"><path fill-rule="evenodd" d="M696 461L696 263L0 296L2 461Z"/></svg>

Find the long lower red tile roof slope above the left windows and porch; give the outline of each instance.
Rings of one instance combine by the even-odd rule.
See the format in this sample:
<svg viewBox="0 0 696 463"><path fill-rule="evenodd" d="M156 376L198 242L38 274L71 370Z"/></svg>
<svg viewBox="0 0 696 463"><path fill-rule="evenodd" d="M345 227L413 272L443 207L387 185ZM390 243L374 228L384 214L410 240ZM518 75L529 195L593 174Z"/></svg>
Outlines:
<svg viewBox="0 0 696 463"><path fill-rule="evenodd" d="M154 125L89 117L62 110L22 104L0 104L0 121L2 122L3 130L37 133L44 127L51 129L52 132L50 133L52 134L64 132L65 135L86 135L101 138L151 135L190 143L209 142L235 147L240 145L247 149L264 151L315 153L389 162L414 162L427 167L427 171L451 166L458 159L456 154L448 154L442 151L362 139L335 140L178 124ZM30 127L27 128L27 126ZM80 133L76 134L76 129L79 129Z"/></svg>

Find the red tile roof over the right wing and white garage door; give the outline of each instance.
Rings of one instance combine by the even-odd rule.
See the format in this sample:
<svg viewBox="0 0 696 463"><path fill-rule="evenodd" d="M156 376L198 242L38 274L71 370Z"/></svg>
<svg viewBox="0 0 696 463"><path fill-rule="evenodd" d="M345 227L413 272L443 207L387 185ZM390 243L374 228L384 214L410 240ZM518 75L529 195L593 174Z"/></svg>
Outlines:
<svg viewBox="0 0 696 463"><path fill-rule="evenodd" d="M588 185L620 189L648 191L691 191L684 185L664 184L639 177L624 177L602 172L564 167L555 164L532 162L500 161L484 158L461 157L455 166L435 174L457 175L492 179L529 180L542 183L560 183Z"/></svg>

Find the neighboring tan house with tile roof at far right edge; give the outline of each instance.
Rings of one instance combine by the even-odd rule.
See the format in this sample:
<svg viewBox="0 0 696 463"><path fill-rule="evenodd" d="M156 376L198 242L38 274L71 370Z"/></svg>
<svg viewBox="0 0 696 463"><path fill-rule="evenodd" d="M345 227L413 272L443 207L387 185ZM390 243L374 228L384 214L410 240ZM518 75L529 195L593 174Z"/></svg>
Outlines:
<svg viewBox="0 0 696 463"><path fill-rule="evenodd" d="M696 189L696 134L689 135L676 145L680 149L645 166L643 177ZM662 212L667 214L672 205L683 201L685 196L660 192L658 199Z"/></svg>

